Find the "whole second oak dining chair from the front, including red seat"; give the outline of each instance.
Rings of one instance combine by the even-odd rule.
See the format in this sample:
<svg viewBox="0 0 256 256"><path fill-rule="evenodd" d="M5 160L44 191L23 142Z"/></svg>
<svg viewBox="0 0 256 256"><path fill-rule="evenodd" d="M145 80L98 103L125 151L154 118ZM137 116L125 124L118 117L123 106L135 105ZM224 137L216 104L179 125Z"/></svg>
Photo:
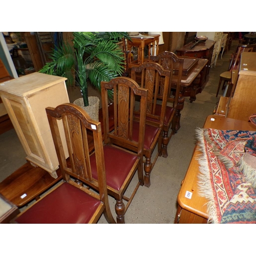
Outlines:
<svg viewBox="0 0 256 256"><path fill-rule="evenodd" d="M113 93L114 129L109 125L109 91ZM140 122L134 121L135 99ZM101 103L104 128L104 154L108 193L115 198L117 223L124 223L124 215L137 190L144 185L143 145L145 139L147 90L129 77L117 77L101 82ZM138 180L133 179L137 172ZM132 184L132 180L133 182ZM136 183L136 185L134 184ZM129 188L129 193L127 189ZM126 201L126 203L124 202Z"/></svg>

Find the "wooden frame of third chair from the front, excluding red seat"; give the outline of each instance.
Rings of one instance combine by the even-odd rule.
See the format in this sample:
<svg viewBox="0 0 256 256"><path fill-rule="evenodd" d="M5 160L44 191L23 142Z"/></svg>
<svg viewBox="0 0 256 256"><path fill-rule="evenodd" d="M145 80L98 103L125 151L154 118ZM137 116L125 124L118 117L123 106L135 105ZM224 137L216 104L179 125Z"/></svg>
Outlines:
<svg viewBox="0 0 256 256"><path fill-rule="evenodd" d="M158 127L159 131L149 148L143 150L144 182L145 186L151 184L150 175L158 156L162 155L163 124L165 118L167 95L169 90L170 71L164 70L158 63L144 62L139 67L132 68L132 79L138 81L141 88L148 90L146 104L146 123ZM158 103L161 98L161 105ZM160 113L159 113L160 112ZM146 128L147 129L147 128ZM154 161L151 161L153 151L158 144Z"/></svg>

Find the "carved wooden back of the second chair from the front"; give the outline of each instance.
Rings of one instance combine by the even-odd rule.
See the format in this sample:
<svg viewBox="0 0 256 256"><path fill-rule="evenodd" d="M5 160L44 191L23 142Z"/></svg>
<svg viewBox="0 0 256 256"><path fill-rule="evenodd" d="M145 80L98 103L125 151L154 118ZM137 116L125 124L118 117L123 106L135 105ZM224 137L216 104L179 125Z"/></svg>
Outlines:
<svg viewBox="0 0 256 256"><path fill-rule="evenodd" d="M113 91L114 130L109 129L109 97ZM145 136L147 90L140 88L138 83L129 77L117 77L109 82L101 82L101 100L104 127L104 143L116 144L138 153L143 159ZM139 138L134 140L134 115L139 113Z"/></svg>

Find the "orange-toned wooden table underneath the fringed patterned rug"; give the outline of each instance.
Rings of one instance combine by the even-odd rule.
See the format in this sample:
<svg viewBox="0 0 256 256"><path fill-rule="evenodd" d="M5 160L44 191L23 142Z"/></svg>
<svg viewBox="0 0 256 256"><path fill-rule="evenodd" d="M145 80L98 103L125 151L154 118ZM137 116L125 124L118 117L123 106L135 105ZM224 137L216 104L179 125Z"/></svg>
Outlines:
<svg viewBox="0 0 256 256"><path fill-rule="evenodd" d="M217 115L208 116L204 128L256 131L256 126L250 122ZM199 196L198 193L199 163L197 159L199 155L199 147L196 145L177 197L178 209L175 223L207 223L206 204L208 201L206 198ZM187 193L192 195L190 199L186 197Z"/></svg>

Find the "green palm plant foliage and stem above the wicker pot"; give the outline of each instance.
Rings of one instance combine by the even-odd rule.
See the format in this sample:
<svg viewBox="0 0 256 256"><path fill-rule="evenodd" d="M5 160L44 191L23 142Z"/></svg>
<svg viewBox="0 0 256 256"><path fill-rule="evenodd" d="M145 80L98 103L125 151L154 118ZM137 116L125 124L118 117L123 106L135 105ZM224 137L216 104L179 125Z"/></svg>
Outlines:
<svg viewBox="0 0 256 256"><path fill-rule="evenodd" d="M130 37L126 32L73 32L73 35L74 49L66 44L56 48L52 54L53 62L47 63L40 72L67 75L71 83L72 77L68 75L72 74L72 69L75 67L76 82L81 89L84 106L88 106L88 78L100 91L101 81L110 81L114 77L121 76L124 72L125 58L117 42L122 38L130 39ZM75 66L71 60L72 54L73 59L76 60ZM57 71L65 71L65 75L60 75Z"/></svg>

